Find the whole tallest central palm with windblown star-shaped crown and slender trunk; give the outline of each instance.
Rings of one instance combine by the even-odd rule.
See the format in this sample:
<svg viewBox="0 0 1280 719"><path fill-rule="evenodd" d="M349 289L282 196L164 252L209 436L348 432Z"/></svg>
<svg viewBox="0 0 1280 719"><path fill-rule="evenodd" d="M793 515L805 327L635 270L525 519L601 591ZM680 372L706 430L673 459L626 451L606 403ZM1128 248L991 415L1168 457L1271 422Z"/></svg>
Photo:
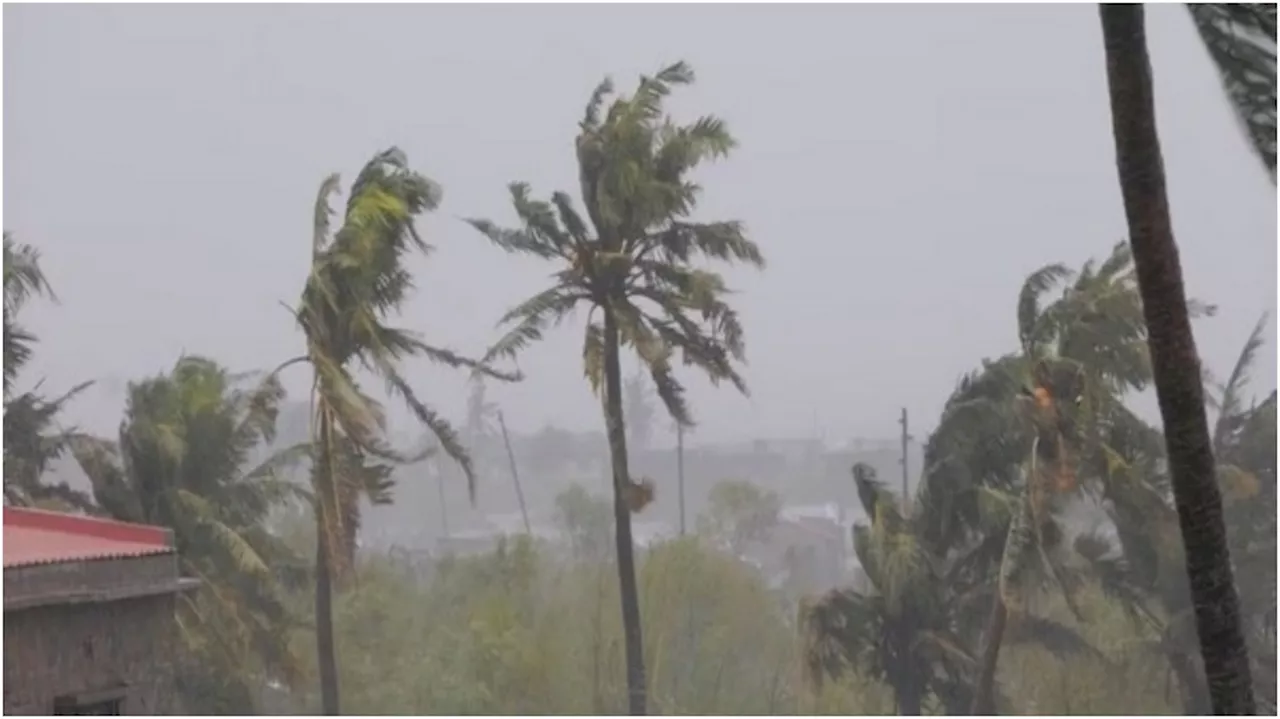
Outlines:
<svg viewBox="0 0 1280 719"><path fill-rule="evenodd" d="M689 220L700 191L689 173L703 160L728 155L735 145L718 118L680 125L664 115L663 101L672 88L692 81L692 69L676 63L641 78L635 95L616 99L603 118L613 84L605 79L595 88L576 143L586 220L568 194L557 192L550 202L540 202L530 198L522 183L509 187L522 228L468 220L508 252L561 264L553 287L502 319L500 324L513 326L486 360L515 357L540 339L549 324L589 307L582 365L593 390L603 389L632 714L645 713L645 673L631 513L652 500L653 487L634 482L628 473L620 353L623 345L635 351L667 412L685 425L691 418L684 388L672 374L676 351L685 365L701 368L713 383L728 380L745 393L735 368L744 358L742 328L723 299L724 280L695 262L764 266L741 223Z"/></svg>

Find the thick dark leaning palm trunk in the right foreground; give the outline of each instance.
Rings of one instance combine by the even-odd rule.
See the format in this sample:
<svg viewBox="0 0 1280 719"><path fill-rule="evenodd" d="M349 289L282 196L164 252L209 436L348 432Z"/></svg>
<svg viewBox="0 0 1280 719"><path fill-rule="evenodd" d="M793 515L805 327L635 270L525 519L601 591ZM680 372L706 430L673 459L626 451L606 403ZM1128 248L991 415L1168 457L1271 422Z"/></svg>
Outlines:
<svg viewBox="0 0 1280 719"><path fill-rule="evenodd" d="M1213 472L1199 357L1165 192L1142 5L1100 5L1129 243L1147 320L1196 628L1215 714L1253 714L1249 656Z"/></svg>

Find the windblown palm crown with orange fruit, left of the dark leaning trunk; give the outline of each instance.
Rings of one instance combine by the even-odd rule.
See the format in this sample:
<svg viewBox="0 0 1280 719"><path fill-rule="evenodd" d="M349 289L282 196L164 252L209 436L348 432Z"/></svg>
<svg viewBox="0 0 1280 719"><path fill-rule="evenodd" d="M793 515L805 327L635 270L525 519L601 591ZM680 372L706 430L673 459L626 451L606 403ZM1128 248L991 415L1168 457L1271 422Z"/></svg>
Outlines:
<svg viewBox="0 0 1280 719"><path fill-rule="evenodd" d="M1060 289L1059 297L1044 298ZM1194 302L1196 316L1211 315ZM1073 273L1046 265L1027 276L1016 302L1019 352L983 361L947 399L924 448L920 500L931 550L945 554L979 533L980 489L1016 494L1036 446L1046 489L1089 489L1101 443L1133 441L1140 421L1124 406L1128 390L1151 381L1146 326L1124 243ZM1039 441L1037 441L1037 438ZM1084 481L1082 481L1084 480Z"/></svg>

